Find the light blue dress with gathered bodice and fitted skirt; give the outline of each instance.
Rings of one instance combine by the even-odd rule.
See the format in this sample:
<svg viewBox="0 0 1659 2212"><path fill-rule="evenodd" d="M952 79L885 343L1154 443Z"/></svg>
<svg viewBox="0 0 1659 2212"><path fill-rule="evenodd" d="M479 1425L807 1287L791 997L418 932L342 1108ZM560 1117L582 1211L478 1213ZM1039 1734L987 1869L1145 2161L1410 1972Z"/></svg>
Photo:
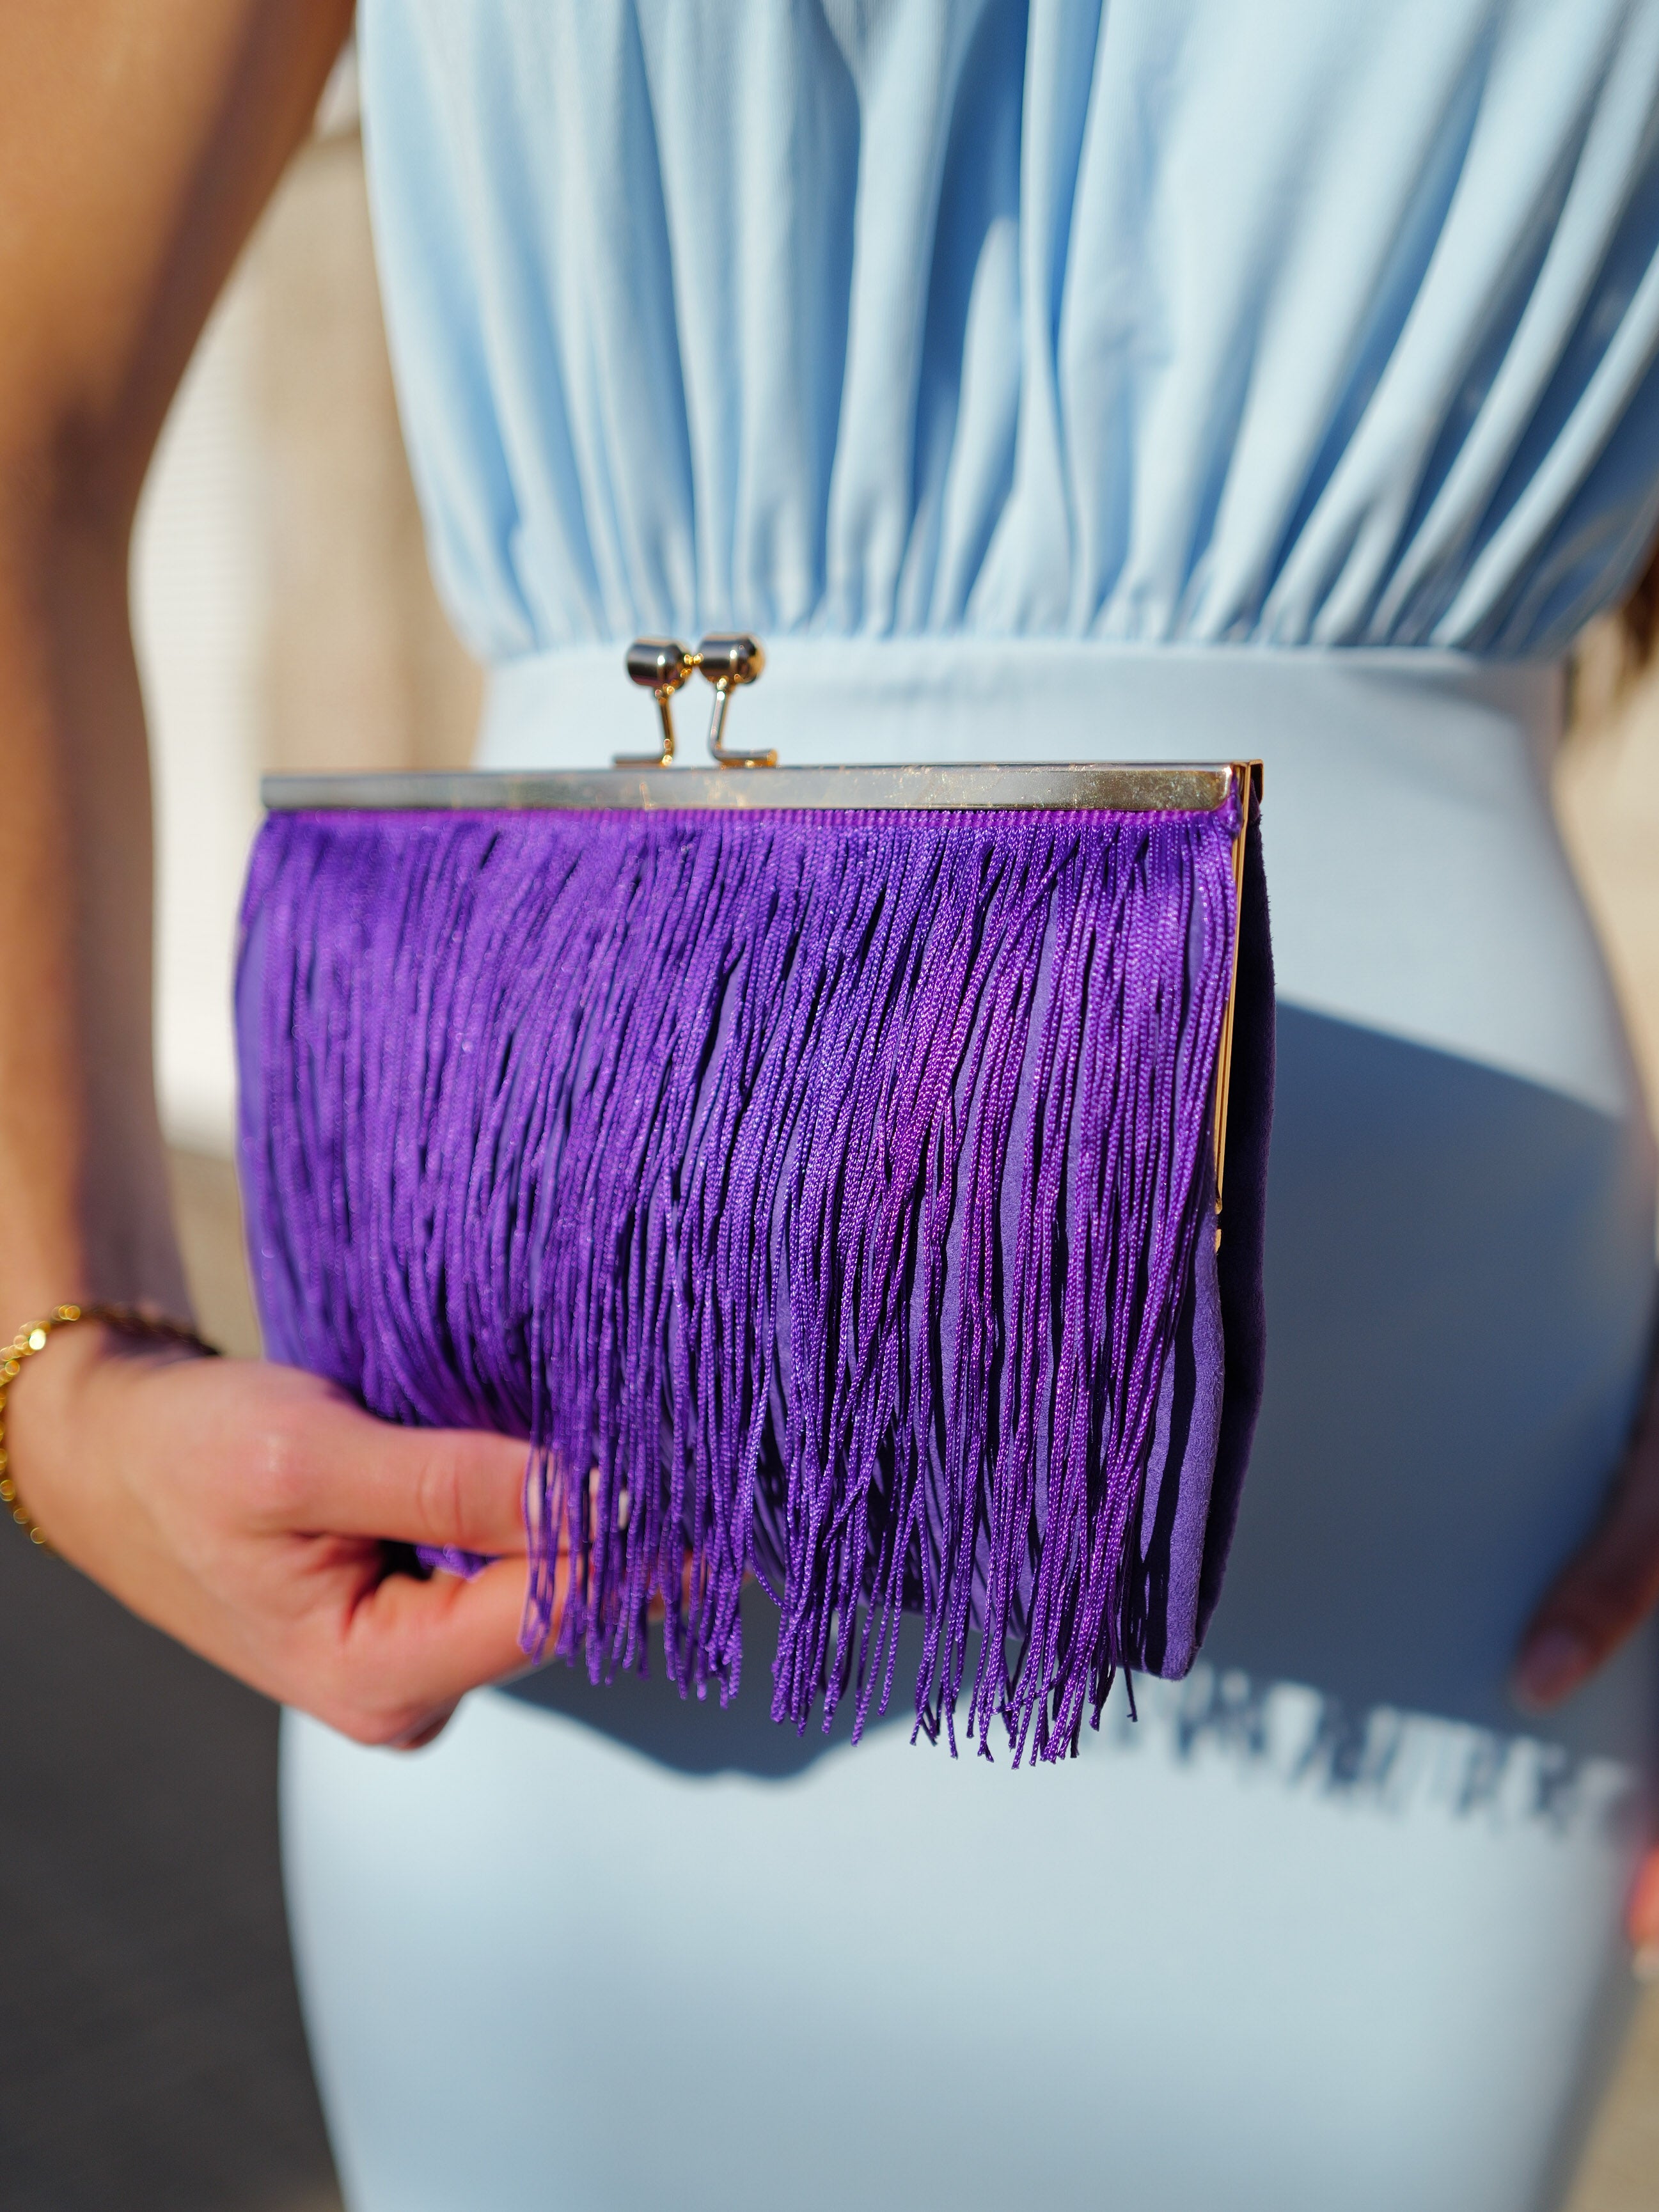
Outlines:
<svg viewBox="0 0 1659 2212"><path fill-rule="evenodd" d="M290 1721L352 2212L1544 2212L1659 1728L1650 1637L1504 1690L1652 1321L1546 772L1659 522L1659 0L369 0L363 66L482 759L648 743L622 641L719 626L790 761L1261 752L1281 1075L1239 1544L1139 1723Z"/></svg>

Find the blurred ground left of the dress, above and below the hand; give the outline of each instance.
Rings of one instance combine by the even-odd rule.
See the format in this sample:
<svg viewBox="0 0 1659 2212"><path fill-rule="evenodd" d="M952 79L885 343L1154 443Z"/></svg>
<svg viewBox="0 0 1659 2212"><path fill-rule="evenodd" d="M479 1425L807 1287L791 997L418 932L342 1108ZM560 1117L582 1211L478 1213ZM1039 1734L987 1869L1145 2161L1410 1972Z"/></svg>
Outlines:
<svg viewBox="0 0 1659 2212"><path fill-rule="evenodd" d="M175 1159L252 1349L234 1181ZM288 1960L276 1708L0 1515L0 2212L338 2212Z"/></svg>

